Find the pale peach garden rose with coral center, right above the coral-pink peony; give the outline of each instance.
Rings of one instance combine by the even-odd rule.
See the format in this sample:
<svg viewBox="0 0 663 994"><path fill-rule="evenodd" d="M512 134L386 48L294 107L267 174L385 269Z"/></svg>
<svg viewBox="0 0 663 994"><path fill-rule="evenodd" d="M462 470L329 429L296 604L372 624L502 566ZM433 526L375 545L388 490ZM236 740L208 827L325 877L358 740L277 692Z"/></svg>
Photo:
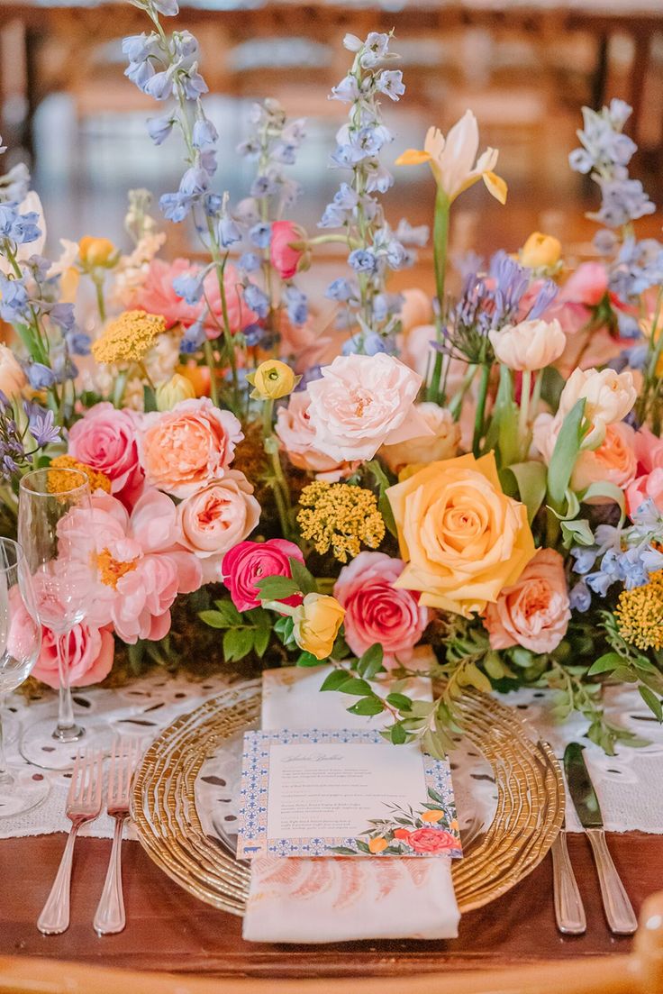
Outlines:
<svg viewBox="0 0 663 994"><path fill-rule="evenodd" d="M257 525L260 505L252 494L245 474L229 469L222 479L213 480L178 505L182 545L203 560L206 582L221 579L223 557Z"/></svg>

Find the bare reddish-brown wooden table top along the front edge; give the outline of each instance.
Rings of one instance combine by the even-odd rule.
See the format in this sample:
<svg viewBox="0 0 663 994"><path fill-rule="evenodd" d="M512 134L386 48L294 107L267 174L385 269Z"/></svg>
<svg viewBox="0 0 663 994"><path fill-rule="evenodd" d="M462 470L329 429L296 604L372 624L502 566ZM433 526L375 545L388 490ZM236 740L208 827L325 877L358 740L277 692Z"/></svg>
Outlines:
<svg viewBox="0 0 663 994"><path fill-rule="evenodd" d="M587 916L584 935L561 935L553 912L551 858L503 898L463 915L448 941L269 945L244 942L240 918L216 911L172 883L137 842L123 849L127 927L99 938L92 916L101 891L109 840L80 839L74 865L72 924L42 935L36 920L51 888L64 835L0 841L0 955L23 954L131 969L275 976L421 973L541 959L626 953L631 939L610 935L601 910L589 847L569 848ZM610 835L608 844L635 911L663 889L663 835ZM404 909L407 914L407 909Z"/></svg>

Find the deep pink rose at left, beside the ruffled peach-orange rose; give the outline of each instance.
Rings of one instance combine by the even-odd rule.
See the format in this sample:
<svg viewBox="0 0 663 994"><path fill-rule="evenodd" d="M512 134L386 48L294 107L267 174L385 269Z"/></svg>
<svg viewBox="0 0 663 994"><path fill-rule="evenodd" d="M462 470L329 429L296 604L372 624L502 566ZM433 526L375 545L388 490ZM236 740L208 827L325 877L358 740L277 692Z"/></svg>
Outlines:
<svg viewBox="0 0 663 994"><path fill-rule="evenodd" d="M69 454L104 473L112 495L127 507L140 495L145 478L136 446L139 424L139 414L104 402L85 412L69 432Z"/></svg>

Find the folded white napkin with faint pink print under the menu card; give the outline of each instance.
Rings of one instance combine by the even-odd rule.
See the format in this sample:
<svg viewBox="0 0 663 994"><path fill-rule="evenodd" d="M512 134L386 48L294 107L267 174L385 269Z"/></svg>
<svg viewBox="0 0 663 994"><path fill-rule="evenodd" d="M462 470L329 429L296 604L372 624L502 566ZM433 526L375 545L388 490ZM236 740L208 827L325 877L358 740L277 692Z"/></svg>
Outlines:
<svg viewBox="0 0 663 994"><path fill-rule="evenodd" d="M329 668L262 674L262 728L366 728L340 694L320 693ZM430 697L425 679L407 693ZM381 716L378 716L380 718ZM380 722L373 719L373 727ZM251 860L243 935L250 942L341 942L362 938L452 938L458 906L443 856L274 857Z"/></svg>

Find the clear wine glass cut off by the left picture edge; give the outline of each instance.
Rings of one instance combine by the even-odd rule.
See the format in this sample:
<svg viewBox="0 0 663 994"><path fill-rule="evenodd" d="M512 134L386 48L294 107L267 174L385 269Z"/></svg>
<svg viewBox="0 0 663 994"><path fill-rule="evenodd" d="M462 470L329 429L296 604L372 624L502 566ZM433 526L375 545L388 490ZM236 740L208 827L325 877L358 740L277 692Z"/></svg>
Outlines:
<svg viewBox="0 0 663 994"><path fill-rule="evenodd" d="M42 626L23 550L0 539L0 818L37 807L49 793L49 781L26 764L9 763L3 743L2 712L6 694L26 680L42 647Z"/></svg>

